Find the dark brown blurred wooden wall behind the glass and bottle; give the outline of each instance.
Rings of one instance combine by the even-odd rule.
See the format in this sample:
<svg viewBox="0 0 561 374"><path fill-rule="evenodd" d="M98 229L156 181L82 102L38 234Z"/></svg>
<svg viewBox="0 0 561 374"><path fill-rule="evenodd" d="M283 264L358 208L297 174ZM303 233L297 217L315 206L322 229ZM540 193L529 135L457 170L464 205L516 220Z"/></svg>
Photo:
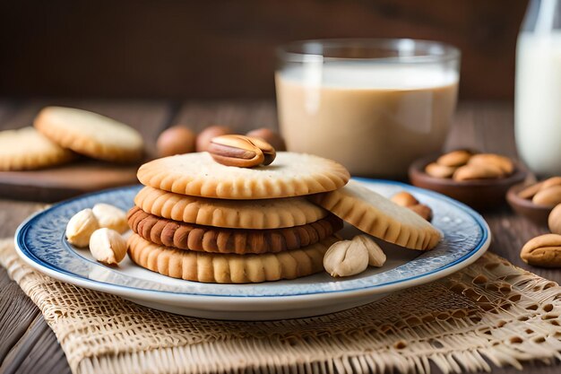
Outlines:
<svg viewBox="0 0 561 374"><path fill-rule="evenodd" d="M462 49L462 98L510 100L526 4L0 0L0 96L272 98L281 43L410 37Z"/></svg>

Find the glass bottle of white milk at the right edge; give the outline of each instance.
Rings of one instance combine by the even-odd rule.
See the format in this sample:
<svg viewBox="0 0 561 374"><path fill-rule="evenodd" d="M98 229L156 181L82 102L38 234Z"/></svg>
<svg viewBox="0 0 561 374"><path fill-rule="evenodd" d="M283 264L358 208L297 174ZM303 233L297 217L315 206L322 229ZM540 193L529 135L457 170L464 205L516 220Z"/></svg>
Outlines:
<svg viewBox="0 0 561 374"><path fill-rule="evenodd" d="M539 176L561 175L561 0L531 0L516 47L516 146Z"/></svg>

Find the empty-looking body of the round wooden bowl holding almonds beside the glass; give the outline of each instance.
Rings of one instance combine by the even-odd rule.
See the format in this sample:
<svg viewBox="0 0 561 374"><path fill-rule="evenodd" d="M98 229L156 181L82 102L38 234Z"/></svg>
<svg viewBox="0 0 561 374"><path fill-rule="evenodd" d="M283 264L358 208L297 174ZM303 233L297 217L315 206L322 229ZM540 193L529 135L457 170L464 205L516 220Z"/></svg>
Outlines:
<svg viewBox="0 0 561 374"><path fill-rule="evenodd" d="M413 186L431 189L470 205L478 211L495 209L505 204L508 188L521 183L528 172L514 162L514 172L506 178L455 181L451 178L435 178L425 172L425 167L438 156L419 159L411 164L409 178Z"/></svg>

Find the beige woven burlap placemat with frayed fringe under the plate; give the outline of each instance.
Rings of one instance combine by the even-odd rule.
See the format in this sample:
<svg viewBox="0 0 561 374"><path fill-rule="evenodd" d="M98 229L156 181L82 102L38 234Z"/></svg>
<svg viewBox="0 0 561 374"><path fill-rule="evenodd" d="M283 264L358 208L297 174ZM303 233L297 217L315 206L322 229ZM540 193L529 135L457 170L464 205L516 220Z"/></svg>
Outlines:
<svg viewBox="0 0 561 374"><path fill-rule="evenodd" d="M561 358L561 288L491 253L435 283L323 317L213 321L148 309L0 263L45 316L74 373L489 370Z"/></svg>

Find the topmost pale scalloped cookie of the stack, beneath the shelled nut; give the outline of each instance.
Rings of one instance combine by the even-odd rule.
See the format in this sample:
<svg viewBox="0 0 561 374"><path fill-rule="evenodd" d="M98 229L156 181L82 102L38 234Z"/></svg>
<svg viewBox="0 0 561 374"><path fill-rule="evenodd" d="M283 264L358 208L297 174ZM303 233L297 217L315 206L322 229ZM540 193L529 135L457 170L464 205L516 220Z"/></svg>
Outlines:
<svg viewBox="0 0 561 374"><path fill-rule="evenodd" d="M145 163L137 177L144 186L182 195L253 200L332 191L350 174L340 163L304 153L278 152L271 165L249 169L197 152Z"/></svg>

